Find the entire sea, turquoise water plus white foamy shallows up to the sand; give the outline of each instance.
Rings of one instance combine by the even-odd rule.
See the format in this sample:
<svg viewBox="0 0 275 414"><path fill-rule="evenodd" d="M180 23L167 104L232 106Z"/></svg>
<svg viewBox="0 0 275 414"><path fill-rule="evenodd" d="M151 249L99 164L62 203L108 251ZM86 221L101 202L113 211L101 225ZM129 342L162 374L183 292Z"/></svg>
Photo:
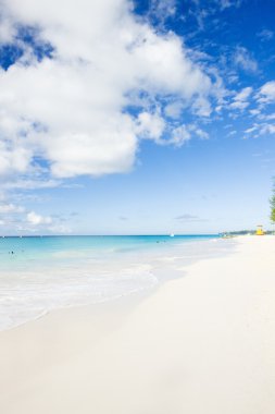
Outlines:
<svg viewBox="0 0 275 414"><path fill-rule="evenodd" d="M55 308L153 289L183 276L183 266L224 252L217 235L1 238L0 330Z"/></svg>

